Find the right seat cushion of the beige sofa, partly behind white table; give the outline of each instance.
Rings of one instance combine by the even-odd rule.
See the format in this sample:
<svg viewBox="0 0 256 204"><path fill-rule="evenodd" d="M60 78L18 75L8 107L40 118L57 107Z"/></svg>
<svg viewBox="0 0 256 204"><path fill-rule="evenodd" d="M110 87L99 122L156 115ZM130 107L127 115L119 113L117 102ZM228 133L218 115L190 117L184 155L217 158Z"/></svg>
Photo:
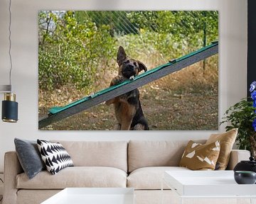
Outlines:
<svg viewBox="0 0 256 204"><path fill-rule="evenodd" d="M152 166L136 169L127 178L127 187L137 190L161 189L164 171L191 171L178 166ZM164 189L170 189L164 184Z"/></svg>

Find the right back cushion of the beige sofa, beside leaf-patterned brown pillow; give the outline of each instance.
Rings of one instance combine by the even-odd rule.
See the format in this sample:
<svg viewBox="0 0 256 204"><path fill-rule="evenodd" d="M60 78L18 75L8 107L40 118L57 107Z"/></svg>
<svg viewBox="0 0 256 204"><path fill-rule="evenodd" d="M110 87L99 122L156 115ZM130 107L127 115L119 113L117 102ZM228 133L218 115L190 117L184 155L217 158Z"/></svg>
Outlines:
<svg viewBox="0 0 256 204"><path fill-rule="evenodd" d="M195 141L205 143L205 140ZM178 166L186 141L131 140L128 145L128 171L146 166Z"/></svg>

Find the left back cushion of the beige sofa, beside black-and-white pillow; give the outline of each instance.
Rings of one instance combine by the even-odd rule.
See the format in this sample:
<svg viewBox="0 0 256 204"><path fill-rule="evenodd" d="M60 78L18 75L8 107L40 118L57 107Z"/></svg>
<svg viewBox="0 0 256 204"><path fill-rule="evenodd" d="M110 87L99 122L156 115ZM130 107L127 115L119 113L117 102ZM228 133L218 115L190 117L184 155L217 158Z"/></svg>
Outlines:
<svg viewBox="0 0 256 204"><path fill-rule="evenodd" d="M53 141L60 142L74 166L110 166L127 172L127 141Z"/></svg>

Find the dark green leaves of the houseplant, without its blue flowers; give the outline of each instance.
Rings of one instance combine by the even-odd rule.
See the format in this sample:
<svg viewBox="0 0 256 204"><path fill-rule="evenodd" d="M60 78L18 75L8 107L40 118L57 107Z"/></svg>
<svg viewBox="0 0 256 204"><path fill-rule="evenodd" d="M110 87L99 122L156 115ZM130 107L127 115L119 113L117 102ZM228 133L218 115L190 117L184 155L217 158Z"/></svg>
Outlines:
<svg viewBox="0 0 256 204"><path fill-rule="evenodd" d="M255 134L255 130L252 127L252 122L256 118L255 110L256 108L253 108L252 101L243 99L228 108L225 112L227 116L223 118L224 120L220 123L228 123L225 127L227 131L238 128L238 137L236 140L239 149L250 150L250 136Z"/></svg>

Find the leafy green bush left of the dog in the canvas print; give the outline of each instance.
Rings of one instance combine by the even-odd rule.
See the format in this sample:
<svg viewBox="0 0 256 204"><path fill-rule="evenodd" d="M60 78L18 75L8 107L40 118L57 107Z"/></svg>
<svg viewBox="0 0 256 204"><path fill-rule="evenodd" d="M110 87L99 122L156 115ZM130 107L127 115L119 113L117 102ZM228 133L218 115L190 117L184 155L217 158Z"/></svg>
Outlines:
<svg viewBox="0 0 256 204"><path fill-rule="evenodd" d="M50 11L38 15L39 22L44 18L48 25L39 30L39 88L72 84L90 92L115 51L110 28L97 28L92 21L79 24L72 11L58 15Z"/></svg>

